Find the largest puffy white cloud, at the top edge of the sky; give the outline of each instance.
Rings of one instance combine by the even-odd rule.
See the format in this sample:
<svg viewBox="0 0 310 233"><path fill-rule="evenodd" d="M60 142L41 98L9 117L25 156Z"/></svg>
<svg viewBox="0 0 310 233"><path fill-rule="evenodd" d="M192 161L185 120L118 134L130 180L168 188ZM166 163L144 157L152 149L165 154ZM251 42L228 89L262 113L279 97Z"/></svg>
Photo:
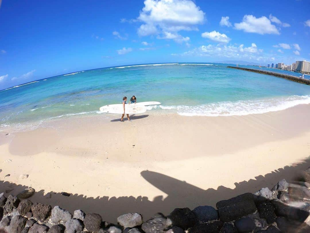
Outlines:
<svg viewBox="0 0 310 233"><path fill-rule="evenodd" d="M204 15L205 13L190 0L145 0L138 17L138 20L143 22L138 34L162 34L158 39L175 37L172 39L180 42L187 37L179 35L178 32L197 30L197 25L204 21Z"/></svg>

